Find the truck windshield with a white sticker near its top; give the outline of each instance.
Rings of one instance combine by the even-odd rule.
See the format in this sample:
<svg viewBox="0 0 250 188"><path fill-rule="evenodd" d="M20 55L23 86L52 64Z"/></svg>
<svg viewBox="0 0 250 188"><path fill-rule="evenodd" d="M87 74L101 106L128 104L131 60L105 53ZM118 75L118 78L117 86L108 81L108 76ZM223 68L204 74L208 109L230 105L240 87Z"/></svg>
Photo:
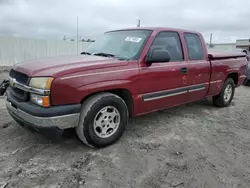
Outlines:
<svg viewBox="0 0 250 188"><path fill-rule="evenodd" d="M118 59L138 59L151 30L122 30L104 33L92 43L87 53L113 56Z"/></svg>

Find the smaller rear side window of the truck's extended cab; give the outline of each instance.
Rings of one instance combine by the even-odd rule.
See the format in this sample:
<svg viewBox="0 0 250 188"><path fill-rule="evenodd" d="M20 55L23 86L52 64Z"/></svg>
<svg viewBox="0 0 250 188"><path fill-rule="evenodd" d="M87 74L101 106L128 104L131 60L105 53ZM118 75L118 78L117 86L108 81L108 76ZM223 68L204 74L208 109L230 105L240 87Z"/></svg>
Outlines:
<svg viewBox="0 0 250 188"><path fill-rule="evenodd" d="M204 59L204 53L200 37L194 33L185 33L184 38L187 44L189 59L190 60Z"/></svg>

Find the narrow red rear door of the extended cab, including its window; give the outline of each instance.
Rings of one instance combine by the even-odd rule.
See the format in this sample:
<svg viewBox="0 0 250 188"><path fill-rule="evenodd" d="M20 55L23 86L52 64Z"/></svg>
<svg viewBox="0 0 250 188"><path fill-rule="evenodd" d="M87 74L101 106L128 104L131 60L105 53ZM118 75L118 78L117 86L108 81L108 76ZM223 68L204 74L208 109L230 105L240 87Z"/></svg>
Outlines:
<svg viewBox="0 0 250 188"><path fill-rule="evenodd" d="M210 63L205 57L201 36L195 33L184 33L187 46L187 83L188 102L205 97L209 89Z"/></svg>

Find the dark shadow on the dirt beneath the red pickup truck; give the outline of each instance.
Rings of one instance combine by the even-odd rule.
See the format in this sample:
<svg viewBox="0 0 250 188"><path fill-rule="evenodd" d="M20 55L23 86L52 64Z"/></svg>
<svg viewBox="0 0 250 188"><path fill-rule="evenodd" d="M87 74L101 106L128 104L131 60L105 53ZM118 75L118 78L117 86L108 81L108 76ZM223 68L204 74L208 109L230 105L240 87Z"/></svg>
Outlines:
<svg viewBox="0 0 250 188"><path fill-rule="evenodd" d="M158 120L168 118L168 123L171 123L173 117L182 118L186 116L187 113L189 115L195 116L202 116L204 115L203 110L209 108L216 108L213 106L212 101L210 99L204 99L198 102L188 103L177 107L172 107L166 110L160 110L157 112L153 112L150 114L146 114L139 117L134 117L129 120L129 124L127 130L125 131L124 136L122 137L123 140L126 140L127 137L138 134L141 132L141 136L144 135L143 130L147 132L149 127L154 127L153 129L157 128L156 122ZM146 130L147 129L147 130ZM140 130L140 131L139 131ZM83 144L77 137L75 129L66 129L61 134L40 134L39 132L33 132L34 134L34 141L35 142L42 142L42 143L49 143L52 145L60 145L63 148L67 149L74 149L76 147L83 147L89 148L85 144ZM39 140L37 138L39 137ZM43 138L42 138L43 137ZM32 141L31 141L32 142ZM34 143L35 144L35 143Z"/></svg>

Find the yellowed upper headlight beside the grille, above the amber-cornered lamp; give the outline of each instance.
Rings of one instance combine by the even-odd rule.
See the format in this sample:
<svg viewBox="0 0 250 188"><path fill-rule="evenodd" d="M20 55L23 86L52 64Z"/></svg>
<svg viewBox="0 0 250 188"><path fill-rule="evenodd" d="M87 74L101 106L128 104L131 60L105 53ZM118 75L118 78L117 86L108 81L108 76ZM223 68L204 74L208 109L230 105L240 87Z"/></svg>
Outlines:
<svg viewBox="0 0 250 188"><path fill-rule="evenodd" d="M31 78L29 86L38 89L50 89L54 78L51 77L35 77Z"/></svg>

